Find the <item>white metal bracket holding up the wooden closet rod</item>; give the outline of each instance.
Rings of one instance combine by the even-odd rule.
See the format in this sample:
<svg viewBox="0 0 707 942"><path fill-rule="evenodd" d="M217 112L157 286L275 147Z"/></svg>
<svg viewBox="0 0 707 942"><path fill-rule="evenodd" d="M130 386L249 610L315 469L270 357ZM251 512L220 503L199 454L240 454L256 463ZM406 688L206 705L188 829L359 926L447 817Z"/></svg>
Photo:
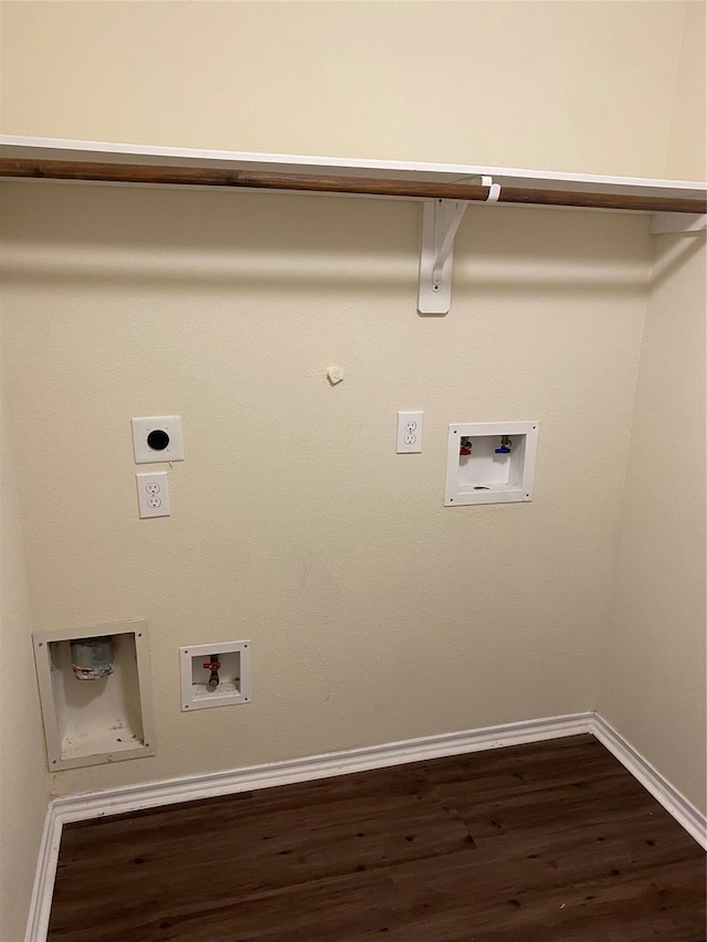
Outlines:
<svg viewBox="0 0 707 942"><path fill-rule="evenodd" d="M479 182L482 187L489 188L486 202L495 203L500 193L499 184L494 183L490 177L482 177ZM454 200L426 200L422 204L418 292L420 314L447 314L450 310L454 236L467 205Z"/></svg>

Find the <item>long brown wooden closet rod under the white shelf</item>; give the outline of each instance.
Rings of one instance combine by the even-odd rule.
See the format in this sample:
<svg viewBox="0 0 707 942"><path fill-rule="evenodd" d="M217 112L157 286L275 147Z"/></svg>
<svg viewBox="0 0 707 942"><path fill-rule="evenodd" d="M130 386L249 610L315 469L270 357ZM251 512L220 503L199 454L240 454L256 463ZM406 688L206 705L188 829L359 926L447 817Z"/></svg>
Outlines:
<svg viewBox="0 0 707 942"><path fill-rule="evenodd" d="M310 193L354 193L378 197L484 202L488 187L419 180L384 180L366 177L277 173L267 170L226 170L212 167L151 167L135 163L84 163L72 160L0 159L0 177L42 180L89 180L104 183L155 183L191 187L234 187L263 190L302 190ZM502 187L498 202L580 209L643 212L704 213L706 199L577 193Z"/></svg>

